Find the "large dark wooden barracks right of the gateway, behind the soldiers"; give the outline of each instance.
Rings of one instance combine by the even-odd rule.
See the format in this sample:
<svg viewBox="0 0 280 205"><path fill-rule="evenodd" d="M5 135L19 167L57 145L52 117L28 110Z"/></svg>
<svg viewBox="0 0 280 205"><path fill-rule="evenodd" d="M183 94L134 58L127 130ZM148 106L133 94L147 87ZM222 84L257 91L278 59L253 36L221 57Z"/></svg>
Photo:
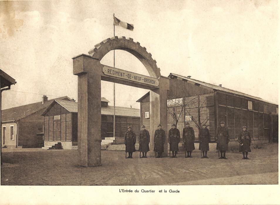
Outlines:
<svg viewBox="0 0 280 205"><path fill-rule="evenodd" d="M177 128L182 133L186 122L195 131L198 142L198 127L207 124L211 140L215 142L215 131L220 121L230 132L229 146L237 144L237 137L242 126L247 126L254 143L278 142L278 105L262 98L254 97L235 90L216 86L181 75L171 73L168 90L168 109L175 112L178 119ZM140 102L141 124L149 125L149 93L137 100ZM168 127L171 129L173 117L168 114ZM182 140L182 138L181 138ZM196 147L198 148L198 147Z"/></svg>

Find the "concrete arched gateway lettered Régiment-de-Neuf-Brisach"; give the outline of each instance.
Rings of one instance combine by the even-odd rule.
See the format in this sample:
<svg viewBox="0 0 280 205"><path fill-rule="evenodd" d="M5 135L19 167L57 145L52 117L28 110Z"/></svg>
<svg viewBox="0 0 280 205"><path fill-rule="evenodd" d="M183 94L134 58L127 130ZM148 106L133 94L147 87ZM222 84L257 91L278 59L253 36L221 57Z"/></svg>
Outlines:
<svg viewBox="0 0 280 205"><path fill-rule="evenodd" d="M138 58L150 76L100 64L111 50L125 50ZM89 51L73 58L73 74L78 76L78 165L101 165L101 80L150 90L150 154L154 132L162 124L167 134L167 90L169 78L161 76L152 55L132 38L108 38ZM163 156L167 156L167 140Z"/></svg>

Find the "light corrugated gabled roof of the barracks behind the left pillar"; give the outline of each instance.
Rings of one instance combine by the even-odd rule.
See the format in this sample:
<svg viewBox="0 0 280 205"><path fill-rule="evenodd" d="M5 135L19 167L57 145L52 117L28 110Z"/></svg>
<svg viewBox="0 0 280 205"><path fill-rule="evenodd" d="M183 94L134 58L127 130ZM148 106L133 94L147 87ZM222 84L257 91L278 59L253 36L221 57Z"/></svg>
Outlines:
<svg viewBox="0 0 280 205"><path fill-rule="evenodd" d="M58 103L69 112L78 112L78 102L54 100L53 103L51 103L49 107L42 113L42 115L45 115L55 103ZM101 107L101 115L114 115L114 106ZM115 115L126 117L140 117L140 109L116 106Z"/></svg>

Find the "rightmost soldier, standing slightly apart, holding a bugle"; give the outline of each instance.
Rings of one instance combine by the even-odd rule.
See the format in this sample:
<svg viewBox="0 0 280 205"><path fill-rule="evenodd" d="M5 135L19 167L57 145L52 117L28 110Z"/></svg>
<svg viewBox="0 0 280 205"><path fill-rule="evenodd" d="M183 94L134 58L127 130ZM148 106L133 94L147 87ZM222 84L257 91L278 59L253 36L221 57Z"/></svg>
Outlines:
<svg viewBox="0 0 280 205"><path fill-rule="evenodd" d="M239 152L242 152L243 158L242 159L249 159L248 152L251 152L251 136L250 133L247 131L247 127L243 126L242 131L239 133L237 138L239 142ZM246 154L246 157L245 157Z"/></svg>

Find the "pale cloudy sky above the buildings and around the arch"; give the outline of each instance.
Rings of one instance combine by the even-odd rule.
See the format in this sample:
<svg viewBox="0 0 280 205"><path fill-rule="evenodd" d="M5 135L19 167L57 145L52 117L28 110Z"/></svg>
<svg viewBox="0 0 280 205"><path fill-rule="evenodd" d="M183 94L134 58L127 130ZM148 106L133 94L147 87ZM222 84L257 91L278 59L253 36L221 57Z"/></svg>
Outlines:
<svg viewBox="0 0 280 205"><path fill-rule="evenodd" d="M114 35L116 26L171 72L278 103L277 1L0 1L0 67L16 79L2 109L67 95L77 99L72 57ZM149 75L132 54L115 51L119 69ZM113 66L113 52L101 60ZM94 88L93 88L94 89ZM116 106L140 108L149 90L116 84ZM101 96L113 105L113 83Z"/></svg>

